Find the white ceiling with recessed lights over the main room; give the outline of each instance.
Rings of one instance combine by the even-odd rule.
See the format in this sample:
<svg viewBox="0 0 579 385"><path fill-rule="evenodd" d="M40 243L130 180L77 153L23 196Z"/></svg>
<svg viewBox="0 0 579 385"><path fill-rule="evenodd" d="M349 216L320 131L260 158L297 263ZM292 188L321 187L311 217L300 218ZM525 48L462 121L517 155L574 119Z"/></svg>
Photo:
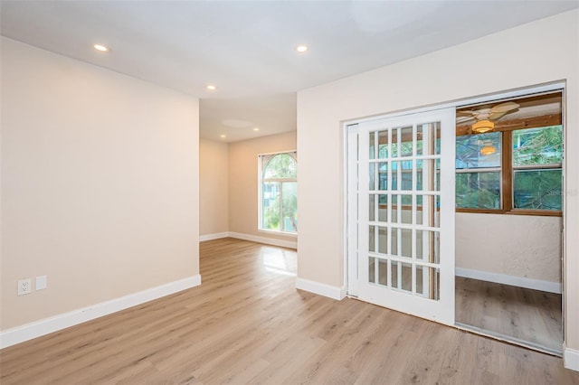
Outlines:
<svg viewBox="0 0 579 385"><path fill-rule="evenodd" d="M200 136L237 141L295 130L299 89L578 6L577 0L1 0L0 31L198 97ZM111 51L94 51L95 42ZM295 52L299 43L308 52ZM210 83L218 89L206 90Z"/></svg>

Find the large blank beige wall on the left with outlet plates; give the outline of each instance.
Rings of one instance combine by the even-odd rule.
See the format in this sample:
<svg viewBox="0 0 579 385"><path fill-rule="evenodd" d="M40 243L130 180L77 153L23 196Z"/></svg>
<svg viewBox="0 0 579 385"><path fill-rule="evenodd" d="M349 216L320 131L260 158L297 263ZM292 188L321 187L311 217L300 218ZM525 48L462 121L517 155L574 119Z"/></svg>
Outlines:
<svg viewBox="0 0 579 385"><path fill-rule="evenodd" d="M197 275L198 100L1 43L2 330Z"/></svg>

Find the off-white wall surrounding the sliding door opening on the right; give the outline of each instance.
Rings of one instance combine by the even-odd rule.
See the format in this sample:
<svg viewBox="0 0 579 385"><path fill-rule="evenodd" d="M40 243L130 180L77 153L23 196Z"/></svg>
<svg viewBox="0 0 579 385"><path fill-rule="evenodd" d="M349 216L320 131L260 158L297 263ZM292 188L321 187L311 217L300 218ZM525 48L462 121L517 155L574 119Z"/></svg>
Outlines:
<svg viewBox="0 0 579 385"><path fill-rule="evenodd" d="M566 80L565 341L579 349L578 19L558 14L299 91L299 278L345 285L341 121Z"/></svg>

